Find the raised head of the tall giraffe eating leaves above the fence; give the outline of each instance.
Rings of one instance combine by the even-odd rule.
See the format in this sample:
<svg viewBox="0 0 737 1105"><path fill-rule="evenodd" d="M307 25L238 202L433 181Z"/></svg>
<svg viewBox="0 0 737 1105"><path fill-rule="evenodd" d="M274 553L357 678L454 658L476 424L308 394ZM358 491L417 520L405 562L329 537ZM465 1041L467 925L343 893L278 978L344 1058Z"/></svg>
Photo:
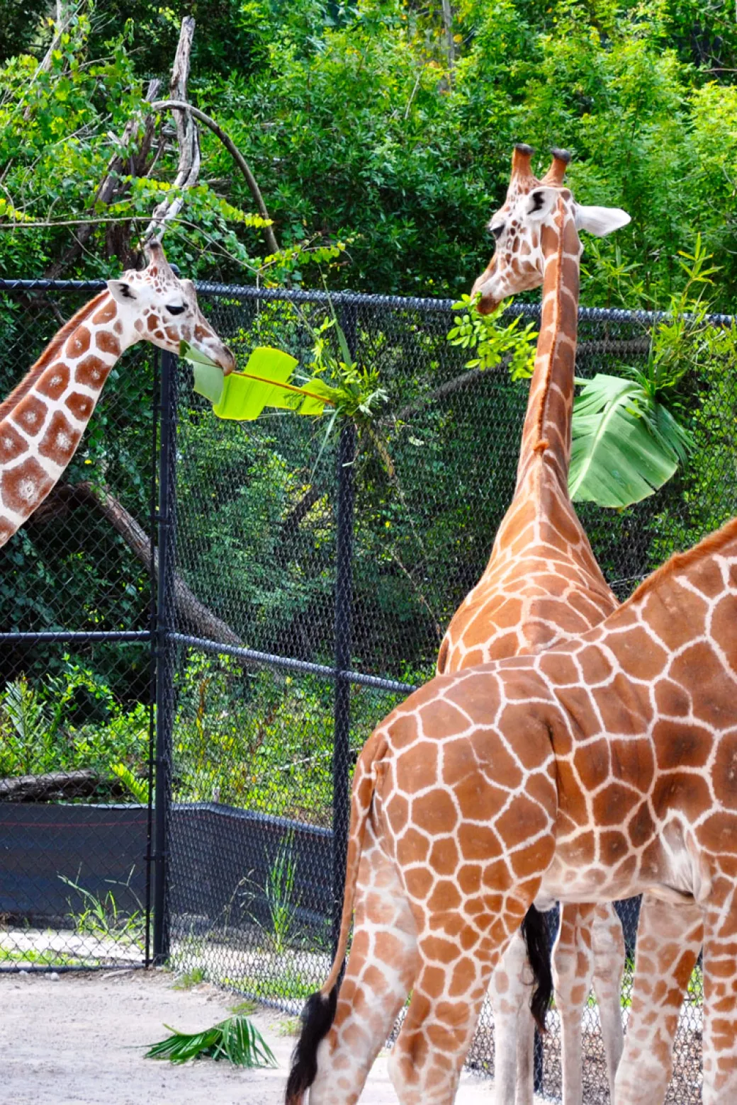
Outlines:
<svg viewBox="0 0 737 1105"><path fill-rule="evenodd" d="M580 254L579 230L588 230L589 233L603 238L630 221L629 214L621 208L583 207L576 203L570 189L564 186L566 168L570 161L568 150L552 150L552 162L541 180L533 175L531 156L531 146L515 146L507 197L488 223L489 232L496 240L496 249L486 270L473 286L474 292L481 292L478 311L482 315L489 314L508 296L539 287L543 283L545 227L550 228L556 240L562 234L564 228L571 227L566 249L572 252L577 248ZM560 208L562 221L557 220Z"/></svg>

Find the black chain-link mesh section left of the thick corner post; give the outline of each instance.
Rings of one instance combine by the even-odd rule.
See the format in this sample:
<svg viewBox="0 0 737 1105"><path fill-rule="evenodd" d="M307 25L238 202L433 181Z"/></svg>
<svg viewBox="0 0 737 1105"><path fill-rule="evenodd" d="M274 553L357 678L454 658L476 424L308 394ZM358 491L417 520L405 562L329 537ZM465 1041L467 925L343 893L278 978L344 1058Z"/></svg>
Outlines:
<svg viewBox="0 0 737 1105"><path fill-rule="evenodd" d="M0 291L0 397L96 291ZM120 359L0 549L0 970L147 958L155 372L150 346Z"/></svg>

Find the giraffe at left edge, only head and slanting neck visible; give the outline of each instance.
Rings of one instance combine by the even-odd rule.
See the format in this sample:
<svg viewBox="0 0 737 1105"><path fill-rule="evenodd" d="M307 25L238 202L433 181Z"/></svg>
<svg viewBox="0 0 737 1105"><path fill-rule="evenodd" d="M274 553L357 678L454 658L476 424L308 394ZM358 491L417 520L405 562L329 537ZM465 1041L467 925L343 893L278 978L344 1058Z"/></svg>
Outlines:
<svg viewBox="0 0 737 1105"><path fill-rule="evenodd" d="M178 280L159 242L148 266L107 281L70 318L0 403L0 546L33 514L72 460L120 354L146 340L179 351L187 341L228 375L232 352L200 313L194 285Z"/></svg>

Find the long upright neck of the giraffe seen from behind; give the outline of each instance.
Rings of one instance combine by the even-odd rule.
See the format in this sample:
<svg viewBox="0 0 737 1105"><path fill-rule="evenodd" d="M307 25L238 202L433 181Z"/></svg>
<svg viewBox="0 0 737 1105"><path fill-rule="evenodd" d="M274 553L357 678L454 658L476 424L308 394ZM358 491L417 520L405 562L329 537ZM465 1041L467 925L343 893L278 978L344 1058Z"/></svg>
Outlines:
<svg viewBox="0 0 737 1105"><path fill-rule="evenodd" d="M554 225L546 224L541 231L543 317L519 451L517 490L535 457L544 453L568 495L581 244L573 217L562 199L554 219Z"/></svg>

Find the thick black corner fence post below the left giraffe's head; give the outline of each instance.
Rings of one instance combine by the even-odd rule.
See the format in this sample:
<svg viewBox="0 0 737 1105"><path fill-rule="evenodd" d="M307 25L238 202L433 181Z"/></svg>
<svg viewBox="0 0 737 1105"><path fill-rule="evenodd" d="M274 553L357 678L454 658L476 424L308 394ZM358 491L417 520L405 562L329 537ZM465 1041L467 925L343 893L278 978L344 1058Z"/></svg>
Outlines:
<svg viewBox="0 0 737 1105"><path fill-rule="evenodd" d="M156 608L156 790L154 844L154 962L169 955L167 861L173 729L176 629L173 567L176 541L177 358L161 354L158 571Z"/></svg>

